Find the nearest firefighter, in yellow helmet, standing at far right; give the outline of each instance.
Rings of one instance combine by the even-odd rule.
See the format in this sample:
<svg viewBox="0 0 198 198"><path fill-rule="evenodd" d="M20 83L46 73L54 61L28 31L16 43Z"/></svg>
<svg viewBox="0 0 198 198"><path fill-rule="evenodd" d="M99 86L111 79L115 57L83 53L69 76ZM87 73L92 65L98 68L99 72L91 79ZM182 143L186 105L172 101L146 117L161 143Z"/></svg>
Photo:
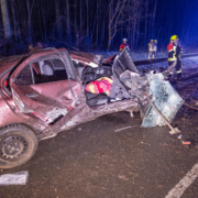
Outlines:
<svg viewBox="0 0 198 198"><path fill-rule="evenodd" d="M183 47L178 44L178 36L173 35L170 37L170 43L167 45L168 51L168 66L170 68L169 74L174 78L175 76L177 79L182 78L182 61L180 57L183 55ZM175 67L172 68L170 66L174 66L173 64L176 63Z"/></svg>

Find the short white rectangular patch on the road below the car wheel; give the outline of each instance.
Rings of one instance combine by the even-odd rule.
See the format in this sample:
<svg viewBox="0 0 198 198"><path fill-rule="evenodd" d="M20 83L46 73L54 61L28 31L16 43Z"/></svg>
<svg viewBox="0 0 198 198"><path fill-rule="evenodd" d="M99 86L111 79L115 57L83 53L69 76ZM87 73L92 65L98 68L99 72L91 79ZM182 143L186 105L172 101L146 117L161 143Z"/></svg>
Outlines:
<svg viewBox="0 0 198 198"><path fill-rule="evenodd" d="M29 172L18 172L15 174L4 174L0 176L0 186L25 185L29 179Z"/></svg>

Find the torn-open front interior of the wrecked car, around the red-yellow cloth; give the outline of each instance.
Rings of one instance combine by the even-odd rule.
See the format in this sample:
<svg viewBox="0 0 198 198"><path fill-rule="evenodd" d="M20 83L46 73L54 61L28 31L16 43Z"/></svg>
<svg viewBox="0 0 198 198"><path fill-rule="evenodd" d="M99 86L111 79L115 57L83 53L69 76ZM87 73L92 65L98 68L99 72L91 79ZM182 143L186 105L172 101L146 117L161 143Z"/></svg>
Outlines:
<svg viewBox="0 0 198 198"><path fill-rule="evenodd" d="M90 66L85 67L82 64L74 62L85 88L87 103L90 107L130 99L129 88L120 80L120 75L125 70L136 72L136 69L135 67L129 66L131 61L130 57L127 56L128 54L123 53L118 59L114 58L109 63L103 63L97 68ZM102 77L111 78L113 80L110 95L107 95L106 92L95 94L86 90L86 86Z"/></svg>

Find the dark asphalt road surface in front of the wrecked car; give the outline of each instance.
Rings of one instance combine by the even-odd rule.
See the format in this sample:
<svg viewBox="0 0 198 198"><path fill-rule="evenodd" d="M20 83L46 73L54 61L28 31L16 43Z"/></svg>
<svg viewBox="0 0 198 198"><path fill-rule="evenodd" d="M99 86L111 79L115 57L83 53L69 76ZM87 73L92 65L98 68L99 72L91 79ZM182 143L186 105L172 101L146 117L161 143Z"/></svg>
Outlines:
<svg viewBox="0 0 198 198"><path fill-rule="evenodd" d="M109 114L62 132L40 142L29 163L0 170L29 172L25 186L2 186L0 198L165 198L198 163L197 118L198 111L183 108L173 123L191 147L167 127L141 129L139 113ZM198 178L182 198L198 198Z"/></svg>

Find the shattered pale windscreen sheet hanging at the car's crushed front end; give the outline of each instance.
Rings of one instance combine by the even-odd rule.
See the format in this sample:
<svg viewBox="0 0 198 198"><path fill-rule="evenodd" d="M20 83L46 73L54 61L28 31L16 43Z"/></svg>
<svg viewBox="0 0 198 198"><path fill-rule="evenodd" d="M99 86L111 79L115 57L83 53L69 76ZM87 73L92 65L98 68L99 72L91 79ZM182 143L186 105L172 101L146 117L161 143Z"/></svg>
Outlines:
<svg viewBox="0 0 198 198"><path fill-rule="evenodd" d="M148 74L147 80L150 84L148 95L152 95L152 101L162 116L170 123L177 111L183 106L183 99L174 90L169 81L165 81L162 74ZM158 113L150 105L142 128L152 128L156 125L166 125Z"/></svg>

